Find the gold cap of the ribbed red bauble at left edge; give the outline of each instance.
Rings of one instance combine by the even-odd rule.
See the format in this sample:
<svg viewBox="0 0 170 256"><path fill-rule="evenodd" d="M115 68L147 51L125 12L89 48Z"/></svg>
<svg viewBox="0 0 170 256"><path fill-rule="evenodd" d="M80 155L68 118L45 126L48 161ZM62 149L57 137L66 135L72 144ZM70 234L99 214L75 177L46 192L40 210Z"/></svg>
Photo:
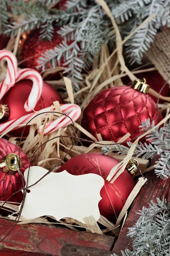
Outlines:
<svg viewBox="0 0 170 256"><path fill-rule="evenodd" d="M0 168L3 172L8 174L14 174L21 167L21 160L17 154L8 154L6 157L0 159Z"/></svg>

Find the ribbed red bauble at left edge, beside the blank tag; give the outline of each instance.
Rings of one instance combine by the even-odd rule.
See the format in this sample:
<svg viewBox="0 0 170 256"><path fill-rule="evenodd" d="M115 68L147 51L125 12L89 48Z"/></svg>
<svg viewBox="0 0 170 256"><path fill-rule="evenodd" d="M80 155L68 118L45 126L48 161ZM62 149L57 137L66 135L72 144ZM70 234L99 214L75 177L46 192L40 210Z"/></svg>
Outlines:
<svg viewBox="0 0 170 256"><path fill-rule="evenodd" d="M23 187L20 173L16 171L13 174L10 174L10 172L5 172L4 167L2 167L3 157L7 157L9 154L16 154L18 156L19 147L8 142L8 140L0 139L0 201L8 200L8 202L21 202L23 199L23 193L21 191L15 195L12 195L14 192L17 192L21 189L21 187ZM22 174L24 174L25 170L29 167L30 160L22 149L20 149L20 160L20 171Z"/></svg>

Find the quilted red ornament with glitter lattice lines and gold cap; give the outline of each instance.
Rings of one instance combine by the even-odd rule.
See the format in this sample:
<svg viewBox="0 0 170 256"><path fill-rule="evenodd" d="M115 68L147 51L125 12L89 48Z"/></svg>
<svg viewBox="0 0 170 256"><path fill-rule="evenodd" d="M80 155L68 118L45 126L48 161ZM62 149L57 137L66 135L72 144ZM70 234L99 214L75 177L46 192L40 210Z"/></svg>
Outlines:
<svg viewBox="0 0 170 256"><path fill-rule="evenodd" d="M127 133L130 133L130 139L139 137L143 133L139 125L145 119L150 118L151 122L159 123L162 116L156 103L140 91L143 88L148 90L148 85L137 80L133 85L136 84L139 85L136 90L120 86L97 94L85 108L82 127L96 138L97 134L101 134L103 140L117 142Z"/></svg>

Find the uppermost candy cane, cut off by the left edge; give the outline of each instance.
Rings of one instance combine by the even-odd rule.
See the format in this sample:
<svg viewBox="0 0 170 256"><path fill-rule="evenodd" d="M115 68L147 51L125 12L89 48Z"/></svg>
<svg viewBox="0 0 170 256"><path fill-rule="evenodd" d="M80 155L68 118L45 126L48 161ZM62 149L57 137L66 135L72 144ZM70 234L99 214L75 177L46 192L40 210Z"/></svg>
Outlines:
<svg viewBox="0 0 170 256"><path fill-rule="evenodd" d="M0 99L14 86L17 76L17 58L15 55L10 51L0 50L0 61L2 60L7 61L8 67L6 78L0 83Z"/></svg>

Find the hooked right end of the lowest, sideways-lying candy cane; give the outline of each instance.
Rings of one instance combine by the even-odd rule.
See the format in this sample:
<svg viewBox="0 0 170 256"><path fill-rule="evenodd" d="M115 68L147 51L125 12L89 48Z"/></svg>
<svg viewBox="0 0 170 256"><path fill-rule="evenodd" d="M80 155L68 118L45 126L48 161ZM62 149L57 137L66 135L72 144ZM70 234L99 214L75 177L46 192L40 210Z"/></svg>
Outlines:
<svg viewBox="0 0 170 256"><path fill-rule="evenodd" d="M68 115L73 122L75 122L81 115L81 108L76 104L62 104L61 110L63 114ZM44 135L50 134L53 131L57 131L59 128L63 128L67 125L70 125L71 119L68 116L61 116L52 122L48 122L45 125ZM40 132L43 128L41 125L38 129Z"/></svg>

